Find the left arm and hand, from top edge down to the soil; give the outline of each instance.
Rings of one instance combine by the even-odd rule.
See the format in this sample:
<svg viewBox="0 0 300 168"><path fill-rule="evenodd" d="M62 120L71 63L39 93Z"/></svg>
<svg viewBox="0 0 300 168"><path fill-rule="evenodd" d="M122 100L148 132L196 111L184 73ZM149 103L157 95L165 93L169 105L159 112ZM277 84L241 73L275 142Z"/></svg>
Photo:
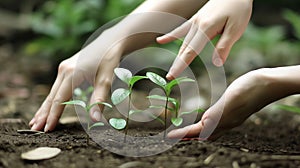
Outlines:
<svg viewBox="0 0 300 168"><path fill-rule="evenodd" d="M70 100L72 86L76 87L83 81L94 86L92 103L105 101L113 81L113 69L122 56L155 43L159 34L180 25L184 18L191 17L205 3L206 0L145 1L120 23L105 30L85 48L60 63L49 95L29 122L31 129L52 131L65 107L61 103ZM166 22L167 14L177 17ZM91 110L93 121L101 120L102 109L103 106L99 106Z"/></svg>

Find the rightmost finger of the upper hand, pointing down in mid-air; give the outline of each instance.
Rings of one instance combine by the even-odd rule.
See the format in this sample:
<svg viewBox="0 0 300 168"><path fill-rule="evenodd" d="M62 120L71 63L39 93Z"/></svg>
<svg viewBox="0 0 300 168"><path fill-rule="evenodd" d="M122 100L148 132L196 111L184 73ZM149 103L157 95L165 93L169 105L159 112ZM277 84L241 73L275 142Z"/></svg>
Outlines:
<svg viewBox="0 0 300 168"><path fill-rule="evenodd" d="M236 34L233 34L230 28L225 28L212 56L212 62L215 66L220 67L225 63L230 50L236 41Z"/></svg>

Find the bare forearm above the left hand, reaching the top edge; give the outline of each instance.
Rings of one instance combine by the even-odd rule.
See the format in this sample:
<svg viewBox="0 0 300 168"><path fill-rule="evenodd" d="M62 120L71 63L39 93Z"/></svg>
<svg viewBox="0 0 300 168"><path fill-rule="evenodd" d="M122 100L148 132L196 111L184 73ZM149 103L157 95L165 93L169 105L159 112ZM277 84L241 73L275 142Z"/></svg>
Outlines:
<svg viewBox="0 0 300 168"><path fill-rule="evenodd" d="M172 30L195 14L207 0L147 0L121 22L109 29L109 34L121 40L124 52L145 47L155 38ZM119 41L120 42L120 41Z"/></svg>

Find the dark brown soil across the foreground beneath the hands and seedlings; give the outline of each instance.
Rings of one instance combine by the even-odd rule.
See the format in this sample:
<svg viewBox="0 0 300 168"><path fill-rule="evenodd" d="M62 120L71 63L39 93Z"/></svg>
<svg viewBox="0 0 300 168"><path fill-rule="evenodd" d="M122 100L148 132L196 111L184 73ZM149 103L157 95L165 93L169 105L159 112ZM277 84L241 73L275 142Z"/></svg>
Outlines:
<svg viewBox="0 0 300 168"><path fill-rule="evenodd" d="M258 124L247 120L243 125L226 133L216 141L179 141L176 144L161 141L161 145L151 145L153 141L140 141L143 149L168 150L147 157L127 157L104 149L94 141L86 144L86 134L80 123L60 124L55 131L46 134L28 135L17 133L18 129L28 129L22 122L1 123L0 127L0 167L297 167L300 165L300 124L295 115L278 113L278 120L268 119L270 114L259 113ZM298 117L298 116L297 116ZM288 122L287 122L288 121ZM96 141L130 152L130 145L122 144L124 134L116 134L101 128ZM100 129L100 130L101 130ZM92 135L97 135L94 130ZM160 130L131 128L132 136L155 135ZM93 137L95 138L95 137ZM119 141L114 143L114 141ZM120 143L122 142L122 143ZM128 144L134 144L128 138ZM157 142L153 143L157 144ZM171 146L170 146L171 145ZM25 161L20 155L30 149L50 146L62 149L55 158L43 161ZM136 147L136 146L135 146ZM148 148L147 148L148 147ZM170 148L170 149L169 149Z"/></svg>

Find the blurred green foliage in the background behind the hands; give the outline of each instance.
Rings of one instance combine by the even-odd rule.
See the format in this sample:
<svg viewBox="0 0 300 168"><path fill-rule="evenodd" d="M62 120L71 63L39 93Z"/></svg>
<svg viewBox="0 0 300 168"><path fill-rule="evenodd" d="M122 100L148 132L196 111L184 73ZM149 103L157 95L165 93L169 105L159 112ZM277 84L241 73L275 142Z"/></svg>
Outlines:
<svg viewBox="0 0 300 168"><path fill-rule="evenodd" d="M46 1L32 14L32 30L39 35L25 47L27 55L38 55L52 61L62 60L78 51L92 32L105 23L130 13L143 0L53 0ZM291 24L295 39L287 37L285 27L258 27L249 24L230 53L227 70L244 73L265 66L295 64L300 61L300 15L285 10L283 17ZM159 45L174 53L180 40ZM209 57L209 56L208 56ZM167 60L171 63L172 60ZM202 72L202 62L191 65ZM228 66L229 65L229 66ZM199 74L198 74L199 75Z"/></svg>

